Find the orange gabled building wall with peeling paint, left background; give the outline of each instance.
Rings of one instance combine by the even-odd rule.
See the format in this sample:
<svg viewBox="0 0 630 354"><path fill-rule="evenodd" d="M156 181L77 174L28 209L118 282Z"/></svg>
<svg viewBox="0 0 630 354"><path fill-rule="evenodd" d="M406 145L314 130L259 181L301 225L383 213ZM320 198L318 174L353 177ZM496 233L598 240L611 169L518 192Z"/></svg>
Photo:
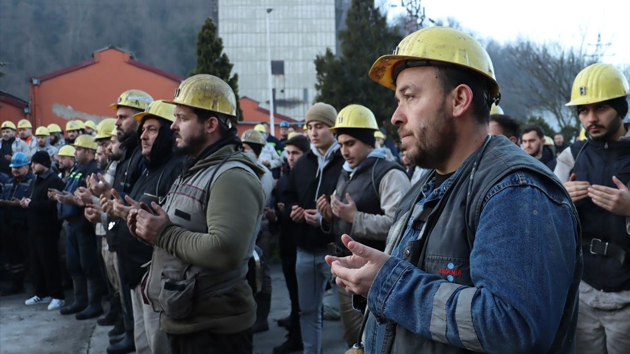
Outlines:
<svg viewBox="0 0 630 354"><path fill-rule="evenodd" d="M68 120L76 119L98 123L114 117L109 105L123 91L142 89L156 100L171 99L183 79L139 63L115 47L95 52L93 60L39 78L31 80L30 88L31 120L36 127L50 123L65 127Z"/></svg>

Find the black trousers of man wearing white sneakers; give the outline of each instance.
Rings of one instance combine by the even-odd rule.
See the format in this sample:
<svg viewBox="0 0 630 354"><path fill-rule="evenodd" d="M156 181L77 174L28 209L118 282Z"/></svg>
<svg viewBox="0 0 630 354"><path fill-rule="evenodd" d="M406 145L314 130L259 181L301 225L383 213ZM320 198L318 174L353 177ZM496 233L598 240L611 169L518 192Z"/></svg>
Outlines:
<svg viewBox="0 0 630 354"><path fill-rule="evenodd" d="M59 229L50 230L50 234L32 235L29 239L33 288L35 295L41 298L50 296L53 299L65 299L61 285L58 241Z"/></svg>

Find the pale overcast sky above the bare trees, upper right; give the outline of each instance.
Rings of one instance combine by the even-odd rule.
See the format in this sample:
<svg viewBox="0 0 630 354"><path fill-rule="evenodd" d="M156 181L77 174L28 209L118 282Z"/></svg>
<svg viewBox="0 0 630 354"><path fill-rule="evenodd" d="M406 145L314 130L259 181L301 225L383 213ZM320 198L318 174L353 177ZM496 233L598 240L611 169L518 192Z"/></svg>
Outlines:
<svg viewBox="0 0 630 354"><path fill-rule="evenodd" d="M391 20L404 13L399 0L385 1ZM377 1L377 4L379 1ZM398 5L389 7L387 4ZM628 0L423 0L427 17L452 17L462 28L505 43L518 36L536 42L557 41L579 47L583 38L595 51L597 34L605 49L602 62L630 66L630 1Z"/></svg>

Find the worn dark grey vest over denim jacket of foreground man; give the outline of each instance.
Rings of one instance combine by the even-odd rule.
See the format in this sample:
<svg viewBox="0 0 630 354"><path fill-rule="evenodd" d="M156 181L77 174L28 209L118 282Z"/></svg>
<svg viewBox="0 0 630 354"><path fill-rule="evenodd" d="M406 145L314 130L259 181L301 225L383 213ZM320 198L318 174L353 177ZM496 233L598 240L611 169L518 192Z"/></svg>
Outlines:
<svg viewBox="0 0 630 354"><path fill-rule="evenodd" d="M474 178L471 180L473 170L476 171L474 171ZM502 135L491 137L485 148L474 152L473 156L468 159L466 165L462 167L459 177L450 185L437 204L432 206L430 213L420 215L427 221L420 239L411 242L414 247L410 249L410 255L405 260L421 270L427 271L427 273L440 275L443 278L447 278L448 274L440 272L440 268L443 267L445 260L449 260L454 263L453 268L458 270L458 274L452 282L473 287L474 284L470 275L470 253L484 205L484 197L498 181L518 170L537 174L541 180L563 190L566 198L570 200L558 178L544 164L525 154L506 137ZM421 198L421 186L427 183L433 174L433 171L425 174L401 201L394 224L389 232L388 240L390 243L394 240L399 242L401 239L410 219L411 210ZM579 226L575 209L573 214L575 223ZM580 239L576 239L576 243L578 247L575 254L576 265L573 281L567 293L563 317L550 352L565 349L563 346L567 343L566 335L570 333L572 327L575 327L578 286L582 274ZM394 244L394 249L396 246ZM390 248L391 245L388 244L387 249L391 252ZM395 331L394 336L392 336L393 333L388 328L385 338L394 340L396 353L470 353L470 351L457 346L419 339L416 334L402 326L396 326ZM384 343L383 348L388 346L388 343Z"/></svg>

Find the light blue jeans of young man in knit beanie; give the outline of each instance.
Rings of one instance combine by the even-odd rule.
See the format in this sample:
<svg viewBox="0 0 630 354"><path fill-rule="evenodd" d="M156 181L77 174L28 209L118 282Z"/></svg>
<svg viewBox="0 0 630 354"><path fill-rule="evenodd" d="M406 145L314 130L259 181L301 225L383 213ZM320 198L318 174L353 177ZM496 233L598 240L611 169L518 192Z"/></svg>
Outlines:
<svg viewBox="0 0 630 354"><path fill-rule="evenodd" d="M326 283L331 277L330 266L324 256L325 252L310 253L297 249L295 274L304 354L321 353L321 308Z"/></svg>

